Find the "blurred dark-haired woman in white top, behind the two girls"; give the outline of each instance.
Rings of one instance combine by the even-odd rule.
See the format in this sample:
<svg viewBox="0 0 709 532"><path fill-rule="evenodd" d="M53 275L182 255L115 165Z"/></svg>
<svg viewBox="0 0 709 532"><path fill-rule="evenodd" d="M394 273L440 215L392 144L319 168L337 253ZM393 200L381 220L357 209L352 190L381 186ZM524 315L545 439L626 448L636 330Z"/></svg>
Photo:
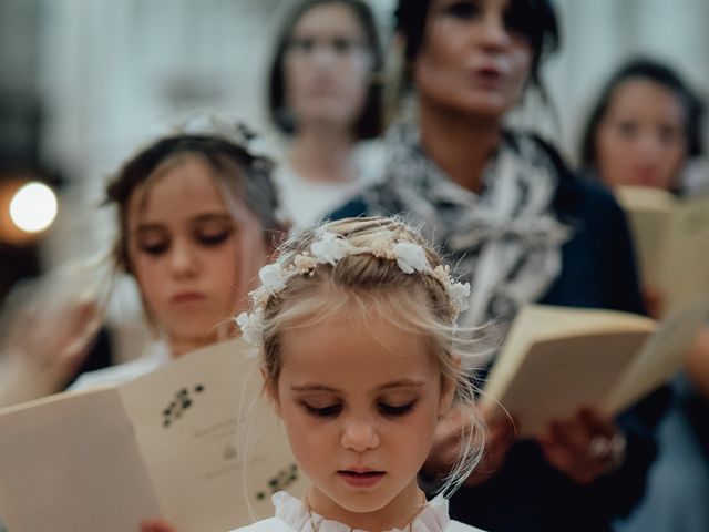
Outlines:
<svg viewBox="0 0 709 532"><path fill-rule="evenodd" d="M304 0L279 32L268 111L286 135L275 173L284 214L317 221L380 172L382 51L362 0Z"/></svg>

